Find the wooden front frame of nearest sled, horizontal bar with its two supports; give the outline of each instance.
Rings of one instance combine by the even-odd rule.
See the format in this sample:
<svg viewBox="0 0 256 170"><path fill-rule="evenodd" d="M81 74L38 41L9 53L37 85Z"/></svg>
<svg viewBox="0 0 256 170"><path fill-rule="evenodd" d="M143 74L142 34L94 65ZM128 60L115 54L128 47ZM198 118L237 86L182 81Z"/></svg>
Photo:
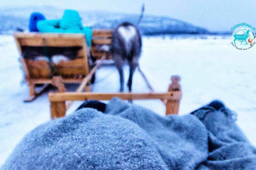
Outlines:
<svg viewBox="0 0 256 170"><path fill-rule="evenodd" d="M61 82L59 84L61 86ZM173 83L170 84L170 87L172 85ZM82 88L83 84L81 84L79 89ZM51 119L64 117L73 101L110 100L113 97L118 97L123 100L160 99L166 106L166 115L178 114L179 103L182 97L181 91L172 90L166 93L82 93L79 89L77 92L49 93ZM181 88L179 90L181 90ZM66 103L66 101L68 102Z"/></svg>

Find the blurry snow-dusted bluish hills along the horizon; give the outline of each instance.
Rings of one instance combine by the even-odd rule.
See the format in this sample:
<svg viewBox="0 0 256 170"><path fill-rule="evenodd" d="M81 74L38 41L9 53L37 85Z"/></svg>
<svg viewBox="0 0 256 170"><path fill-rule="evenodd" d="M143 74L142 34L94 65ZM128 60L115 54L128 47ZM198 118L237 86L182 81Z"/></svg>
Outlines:
<svg viewBox="0 0 256 170"><path fill-rule="evenodd" d="M26 30L32 12L41 12L48 19L61 18L64 9L42 7L20 7L0 9L0 33L12 33L17 28ZM111 13L103 11L79 11L84 25L92 28L114 28L124 21L136 24L139 14ZM164 16L145 15L139 25L144 35L159 34L204 34L208 30L187 22Z"/></svg>

